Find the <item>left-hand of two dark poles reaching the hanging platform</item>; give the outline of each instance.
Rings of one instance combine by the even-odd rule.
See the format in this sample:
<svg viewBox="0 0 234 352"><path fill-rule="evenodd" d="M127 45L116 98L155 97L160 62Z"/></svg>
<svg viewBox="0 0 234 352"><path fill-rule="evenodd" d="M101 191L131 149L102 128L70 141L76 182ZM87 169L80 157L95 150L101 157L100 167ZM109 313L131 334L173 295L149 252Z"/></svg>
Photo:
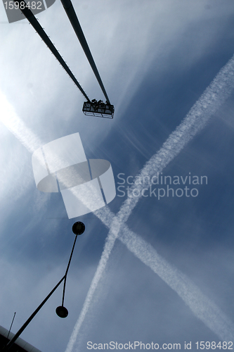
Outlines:
<svg viewBox="0 0 234 352"><path fill-rule="evenodd" d="M24 0L13 0L15 1L15 3L20 3L23 1L25 3ZM21 6L22 7L22 6ZM34 27L34 30L36 30L36 32L39 34L39 36L41 37L41 39L43 40L43 42L48 46L48 48L51 50L51 52L53 53L54 56L56 56L58 62L63 66L63 68L65 69L65 71L67 72L68 75L70 75L70 77L72 78L72 81L74 82L74 84L76 84L76 86L79 88L80 92L82 92L82 94L85 96L85 98L90 102L89 97L86 95L86 93L84 92L84 89L82 89L82 86L79 84L79 82L77 81L76 77L74 77L72 71L70 70L70 68L67 66L67 64L65 63L65 61L63 60L62 56L60 56L58 50L56 49L56 47L53 45L53 43L51 42L51 39L49 39L48 35L46 34L46 32L44 31L44 29L41 27L41 25L39 24L37 18L35 18L34 14L32 13L32 11L30 10L30 8L26 7L26 3L25 3L25 7L24 8L20 8L19 11L22 11L22 13L25 15L25 17L27 18L27 20L31 23L32 27Z"/></svg>

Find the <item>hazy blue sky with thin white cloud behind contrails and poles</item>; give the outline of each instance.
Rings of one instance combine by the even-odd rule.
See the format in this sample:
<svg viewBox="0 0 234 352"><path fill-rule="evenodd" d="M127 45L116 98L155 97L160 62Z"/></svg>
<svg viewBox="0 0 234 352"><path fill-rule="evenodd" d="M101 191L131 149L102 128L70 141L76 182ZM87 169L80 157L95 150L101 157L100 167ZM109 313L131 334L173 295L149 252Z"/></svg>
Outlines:
<svg viewBox="0 0 234 352"><path fill-rule="evenodd" d="M110 222L107 208L98 210L98 217L90 213L69 220L60 194L37 190L31 163L39 146L79 132L86 157L110 161L116 184L119 173L125 180L138 175L233 56L233 2L90 0L74 1L74 8L115 105L113 120L83 115L84 99L70 77L27 20L4 23L2 6L0 89L17 124L1 103L0 325L10 327L16 311L12 330L17 332L63 277L74 240L72 225L80 220L86 232L77 239L67 277L69 315L62 320L55 313L60 287L23 339L44 352L70 352L89 351L88 341L180 343L182 350L184 341L192 341L191 351L197 351L196 341L218 344L222 326L233 338L233 93L223 102L221 94L215 96L212 116L202 115L207 125L162 170L172 178L207 176L207 184L195 185L198 195L141 197L126 224L117 222L110 236L100 220ZM60 1L37 18L88 96L103 99ZM198 129L199 124L197 118ZM157 175L154 165L151 172ZM117 191L110 211L117 214L124 201L126 196ZM105 240L118 225L129 230L119 229L76 337L72 331ZM125 231L143 239L139 256L152 263L153 253L158 270L166 268L162 275L132 253L134 246L127 249ZM196 305L186 301L186 289L192 301L197 295ZM200 318L206 304L219 312L215 326L209 326L209 314ZM67 347L71 335L76 339Z"/></svg>

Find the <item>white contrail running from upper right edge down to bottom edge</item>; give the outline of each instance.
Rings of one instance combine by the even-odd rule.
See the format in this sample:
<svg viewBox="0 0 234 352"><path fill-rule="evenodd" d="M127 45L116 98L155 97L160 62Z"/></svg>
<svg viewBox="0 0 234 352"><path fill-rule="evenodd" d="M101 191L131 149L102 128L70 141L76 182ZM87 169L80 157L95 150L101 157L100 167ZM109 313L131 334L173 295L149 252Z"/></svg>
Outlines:
<svg viewBox="0 0 234 352"><path fill-rule="evenodd" d="M234 89L234 56L230 58L228 63L221 68L219 73L214 77L211 84L205 89L200 99L196 101L193 107L190 109L186 117L183 119L180 125L176 127L176 130L172 132L167 141L164 142L160 151L155 153L152 158L145 164L141 170L139 177L151 177L157 172L162 172L162 170L173 160L178 153L190 142L193 137L207 125L209 118L218 110L221 104L228 99L231 92ZM150 184L148 185L150 187ZM91 287L89 288L88 294L84 301L84 306L82 312L79 315L76 325L74 326L70 341L67 344L65 352L71 352L74 343L79 334L79 329L84 322L86 313L89 310L91 301L93 298L93 293L98 286L100 277L105 270L106 263L115 244L115 239L118 237L119 227L124 225L126 220L131 215L132 210L136 206L136 203L141 198L141 192L145 188L143 184L132 185L131 189L138 189L138 197L128 197L124 201L122 207L112 221L109 219L110 232L105 242L105 247L103 249L102 256L100 258L98 268L91 282ZM105 210L106 211L106 210ZM95 212L96 215L100 216L100 211ZM105 218L105 215L104 215ZM106 220L105 220L106 221ZM109 227L108 226L108 227Z"/></svg>

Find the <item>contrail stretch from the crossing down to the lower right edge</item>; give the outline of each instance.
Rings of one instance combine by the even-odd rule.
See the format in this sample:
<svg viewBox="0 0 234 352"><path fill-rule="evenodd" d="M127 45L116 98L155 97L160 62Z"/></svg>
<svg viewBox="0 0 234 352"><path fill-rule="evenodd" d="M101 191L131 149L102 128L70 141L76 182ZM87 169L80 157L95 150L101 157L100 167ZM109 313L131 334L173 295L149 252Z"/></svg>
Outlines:
<svg viewBox="0 0 234 352"><path fill-rule="evenodd" d="M171 289L174 289L194 315L202 320L219 339L233 341L233 322L221 312L216 304L204 296L183 272L170 265L148 242L126 227L123 228L119 239L129 251L159 275Z"/></svg>

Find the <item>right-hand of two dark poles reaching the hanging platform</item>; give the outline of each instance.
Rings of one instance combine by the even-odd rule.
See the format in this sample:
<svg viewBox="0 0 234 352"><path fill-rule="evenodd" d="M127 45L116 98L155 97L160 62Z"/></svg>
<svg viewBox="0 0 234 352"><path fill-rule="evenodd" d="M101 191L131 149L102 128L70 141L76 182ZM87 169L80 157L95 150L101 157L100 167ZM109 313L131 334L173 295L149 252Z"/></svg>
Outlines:
<svg viewBox="0 0 234 352"><path fill-rule="evenodd" d="M70 20L70 23L72 24L74 32L77 34L77 38L79 39L79 42L82 45L82 48L84 50L84 54L86 54L86 58L89 60L91 68L93 69L93 73L94 73L94 75L96 75L96 79L98 80L98 83L100 85L100 89L102 89L103 94L105 95L106 101L108 102L108 104L110 104L108 94L107 94L107 92L105 92L103 82L102 82L100 75L98 73L98 69L96 68L96 64L93 60L93 56L92 56L91 51L89 49L89 45L86 42L86 39L84 37L82 27L79 24L79 20L77 18L77 14L74 11L74 7L72 5L72 2L70 0L61 0L61 3L63 4L63 7L67 13L67 16Z"/></svg>

